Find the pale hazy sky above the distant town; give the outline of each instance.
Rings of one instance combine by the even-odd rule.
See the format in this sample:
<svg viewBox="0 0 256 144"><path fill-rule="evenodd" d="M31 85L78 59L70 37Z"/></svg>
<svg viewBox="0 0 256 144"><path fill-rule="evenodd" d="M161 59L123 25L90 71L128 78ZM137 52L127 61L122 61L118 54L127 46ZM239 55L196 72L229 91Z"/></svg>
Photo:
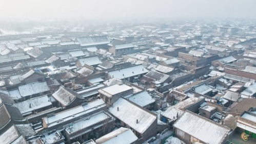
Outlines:
<svg viewBox="0 0 256 144"><path fill-rule="evenodd" d="M256 18L256 0L0 0L0 18Z"/></svg>

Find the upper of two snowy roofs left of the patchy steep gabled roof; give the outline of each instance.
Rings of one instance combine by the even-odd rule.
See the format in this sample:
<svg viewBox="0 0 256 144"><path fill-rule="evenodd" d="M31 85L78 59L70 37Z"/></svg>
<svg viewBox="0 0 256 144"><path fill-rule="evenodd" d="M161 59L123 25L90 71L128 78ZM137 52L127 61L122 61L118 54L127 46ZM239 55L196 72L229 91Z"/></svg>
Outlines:
<svg viewBox="0 0 256 144"><path fill-rule="evenodd" d="M31 83L31 84L19 86L18 90L21 96L25 97L25 96L49 91L50 88L48 87L46 82L38 82L38 83Z"/></svg>

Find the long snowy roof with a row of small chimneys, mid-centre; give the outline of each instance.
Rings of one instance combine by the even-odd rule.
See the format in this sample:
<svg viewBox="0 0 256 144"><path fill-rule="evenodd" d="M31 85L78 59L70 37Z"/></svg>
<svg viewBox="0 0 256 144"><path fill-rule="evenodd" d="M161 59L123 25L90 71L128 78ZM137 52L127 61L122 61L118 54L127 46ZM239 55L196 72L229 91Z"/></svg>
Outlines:
<svg viewBox="0 0 256 144"><path fill-rule="evenodd" d="M142 65L137 65L137 66L132 66L129 68L110 71L110 72L108 72L108 74L112 78L114 77L114 78L124 79L124 78L128 78L128 77L144 74L147 72L148 72L148 70L146 68L144 68Z"/></svg>

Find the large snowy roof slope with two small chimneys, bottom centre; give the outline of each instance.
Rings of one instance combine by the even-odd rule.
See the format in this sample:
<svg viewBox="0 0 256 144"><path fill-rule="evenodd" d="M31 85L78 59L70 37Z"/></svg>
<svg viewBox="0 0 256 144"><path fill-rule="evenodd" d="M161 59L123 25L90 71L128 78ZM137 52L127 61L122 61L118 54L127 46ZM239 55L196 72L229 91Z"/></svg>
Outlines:
<svg viewBox="0 0 256 144"><path fill-rule="evenodd" d="M144 133L157 120L156 115L135 106L124 98L119 98L109 108L109 112L139 133Z"/></svg>

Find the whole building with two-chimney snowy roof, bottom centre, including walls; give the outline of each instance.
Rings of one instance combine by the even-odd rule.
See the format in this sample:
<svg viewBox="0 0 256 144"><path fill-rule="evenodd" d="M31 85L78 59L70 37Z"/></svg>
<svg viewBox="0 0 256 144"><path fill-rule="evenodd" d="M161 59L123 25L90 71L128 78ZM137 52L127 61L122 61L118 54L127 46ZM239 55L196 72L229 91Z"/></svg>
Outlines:
<svg viewBox="0 0 256 144"><path fill-rule="evenodd" d="M143 140L157 133L157 115L124 98L119 98L109 108L109 112L117 118L121 126L130 128L137 137Z"/></svg>

